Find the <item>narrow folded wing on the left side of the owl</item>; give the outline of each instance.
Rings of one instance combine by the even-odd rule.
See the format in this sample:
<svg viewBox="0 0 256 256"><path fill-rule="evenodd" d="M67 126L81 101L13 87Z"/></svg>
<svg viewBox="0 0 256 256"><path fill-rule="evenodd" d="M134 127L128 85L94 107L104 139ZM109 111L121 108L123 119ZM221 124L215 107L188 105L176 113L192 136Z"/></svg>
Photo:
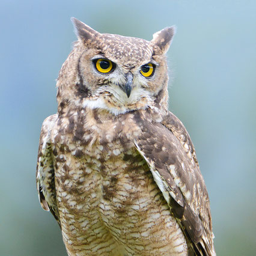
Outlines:
<svg viewBox="0 0 256 256"><path fill-rule="evenodd" d="M37 160L37 191L41 207L52 213L60 226L58 207L56 204L55 175L53 169L52 145L50 135L57 120L57 115L51 115L43 121L41 128L38 160Z"/></svg>

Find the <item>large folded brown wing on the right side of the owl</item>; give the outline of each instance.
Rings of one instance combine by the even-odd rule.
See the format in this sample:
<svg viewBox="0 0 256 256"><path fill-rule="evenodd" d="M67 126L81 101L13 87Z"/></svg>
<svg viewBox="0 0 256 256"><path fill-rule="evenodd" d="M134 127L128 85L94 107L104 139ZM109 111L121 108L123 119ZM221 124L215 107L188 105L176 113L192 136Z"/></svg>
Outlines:
<svg viewBox="0 0 256 256"><path fill-rule="evenodd" d="M141 119L139 126L135 146L184 236L196 255L215 255L209 197L185 127L171 112L162 123Z"/></svg>

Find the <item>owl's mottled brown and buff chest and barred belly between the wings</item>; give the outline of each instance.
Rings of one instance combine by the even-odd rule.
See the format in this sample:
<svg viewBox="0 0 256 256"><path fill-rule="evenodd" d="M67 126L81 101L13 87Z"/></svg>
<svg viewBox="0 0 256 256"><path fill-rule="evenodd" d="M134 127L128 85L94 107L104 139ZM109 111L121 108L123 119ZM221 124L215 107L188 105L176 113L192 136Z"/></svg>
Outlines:
<svg viewBox="0 0 256 256"><path fill-rule="evenodd" d="M123 130L113 132L112 127L105 133L76 127L72 133L53 131L56 200L64 242L67 247L83 246L85 252L103 244L113 253L126 244L131 254L146 248L150 254L155 245L168 251L170 238L164 231L170 226L177 230L176 222L135 148L133 138L139 129L120 127Z"/></svg>

